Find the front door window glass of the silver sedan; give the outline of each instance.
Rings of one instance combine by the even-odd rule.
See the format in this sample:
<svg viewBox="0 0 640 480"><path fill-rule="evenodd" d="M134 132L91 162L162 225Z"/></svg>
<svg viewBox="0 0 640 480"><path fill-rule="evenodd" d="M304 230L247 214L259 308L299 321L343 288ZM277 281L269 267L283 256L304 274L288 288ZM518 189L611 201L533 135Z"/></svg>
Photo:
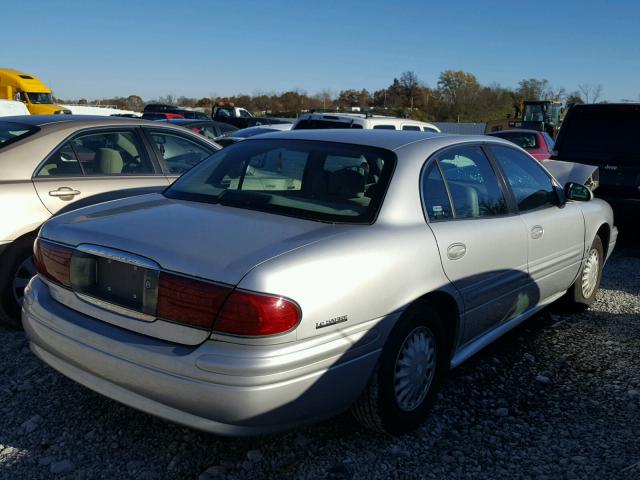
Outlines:
<svg viewBox="0 0 640 480"><path fill-rule="evenodd" d="M511 185L520 211L557 204L551 178L535 160L509 147L492 145L491 150Z"/></svg>

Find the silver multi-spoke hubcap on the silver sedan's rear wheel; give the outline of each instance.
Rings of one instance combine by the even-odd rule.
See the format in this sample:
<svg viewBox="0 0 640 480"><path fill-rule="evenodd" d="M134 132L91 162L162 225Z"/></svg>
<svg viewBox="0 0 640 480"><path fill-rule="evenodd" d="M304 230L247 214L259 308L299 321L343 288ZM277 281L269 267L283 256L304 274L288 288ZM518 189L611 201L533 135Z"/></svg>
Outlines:
<svg viewBox="0 0 640 480"><path fill-rule="evenodd" d="M405 412L420 406L429 392L436 368L436 342L427 327L414 329L405 339L394 375L396 402Z"/></svg>

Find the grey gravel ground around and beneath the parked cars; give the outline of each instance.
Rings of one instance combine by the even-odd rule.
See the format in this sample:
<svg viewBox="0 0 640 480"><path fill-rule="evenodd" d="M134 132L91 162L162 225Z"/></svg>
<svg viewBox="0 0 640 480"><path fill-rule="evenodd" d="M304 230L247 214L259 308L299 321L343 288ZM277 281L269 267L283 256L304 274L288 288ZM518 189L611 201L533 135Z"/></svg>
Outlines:
<svg viewBox="0 0 640 480"><path fill-rule="evenodd" d="M103 398L0 329L0 478L640 478L640 254L618 251L592 308L547 311L451 372L401 438L342 415L249 439Z"/></svg>

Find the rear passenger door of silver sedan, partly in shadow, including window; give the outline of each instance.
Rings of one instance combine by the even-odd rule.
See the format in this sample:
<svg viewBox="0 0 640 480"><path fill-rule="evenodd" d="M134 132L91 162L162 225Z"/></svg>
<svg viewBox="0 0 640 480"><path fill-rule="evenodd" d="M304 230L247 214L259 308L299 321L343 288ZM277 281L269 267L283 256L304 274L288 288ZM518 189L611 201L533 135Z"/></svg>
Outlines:
<svg viewBox="0 0 640 480"><path fill-rule="evenodd" d="M524 224L479 145L431 159L422 192L443 269L464 301L463 343L537 304Z"/></svg>

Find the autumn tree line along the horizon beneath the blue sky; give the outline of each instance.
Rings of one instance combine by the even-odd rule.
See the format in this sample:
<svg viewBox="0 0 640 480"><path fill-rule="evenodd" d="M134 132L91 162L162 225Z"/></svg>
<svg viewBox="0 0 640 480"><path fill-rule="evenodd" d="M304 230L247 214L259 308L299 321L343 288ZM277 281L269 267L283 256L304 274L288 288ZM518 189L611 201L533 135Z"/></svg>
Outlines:
<svg viewBox="0 0 640 480"><path fill-rule="evenodd" d="M316 111L373 111L386 115L411 117L426 121L488 122L513 115L525 100L561 100L566 104L596 103L602 96L602 85L583 84L574 92L554 89L546 79L523 79L516 88L497 83L482 85L475 75L460 70L446 70L435 87L422 82L415 72L407 71L394 78L389 86L375 91L346 89L334 92L323 89L315 94L304 90L256 92L231 97L192 98L166 95L145 102L138 95L87 101L66 101L88 105L114 105L142 111L145 103L166 103L202 108L207 112L218 102L230 102L259 115L293 116ZM60 101L65 102L65 101Z"/></svg>

